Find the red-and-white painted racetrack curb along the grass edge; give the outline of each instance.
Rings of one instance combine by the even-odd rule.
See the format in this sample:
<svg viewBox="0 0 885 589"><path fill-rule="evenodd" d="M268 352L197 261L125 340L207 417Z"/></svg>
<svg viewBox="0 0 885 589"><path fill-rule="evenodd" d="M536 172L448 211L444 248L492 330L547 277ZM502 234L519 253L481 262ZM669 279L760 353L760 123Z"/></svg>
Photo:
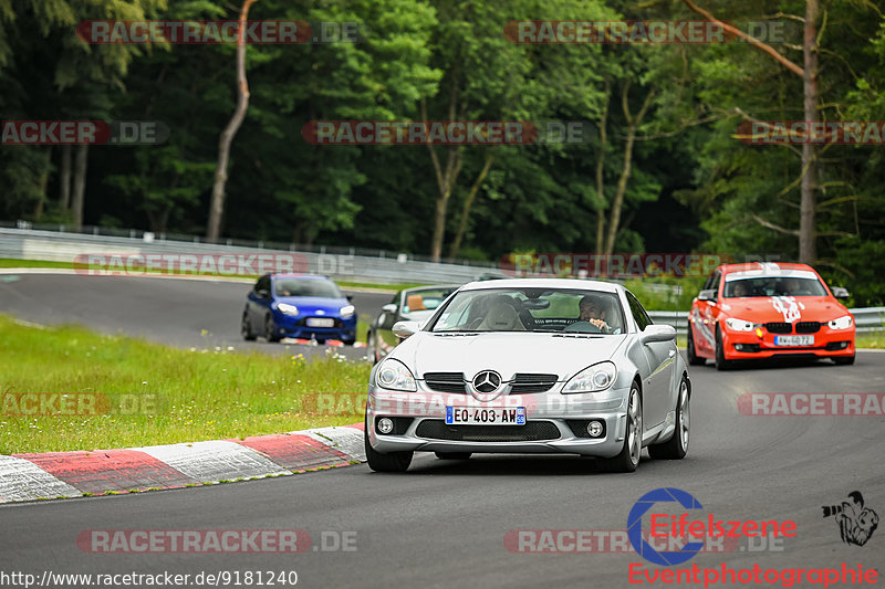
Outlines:
<svg viewBox="0 0 885 589"><path fill-rule="evenodd" d="M285 476L365 460L362 423L244 440L0 455L0 503Z"/></svg>

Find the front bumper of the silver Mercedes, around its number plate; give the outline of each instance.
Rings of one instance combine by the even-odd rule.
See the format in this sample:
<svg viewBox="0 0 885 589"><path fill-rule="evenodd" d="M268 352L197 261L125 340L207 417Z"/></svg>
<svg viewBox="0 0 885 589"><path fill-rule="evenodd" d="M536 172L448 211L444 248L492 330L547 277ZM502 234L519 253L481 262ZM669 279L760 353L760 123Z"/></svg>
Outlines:
<svg viewBox="0 0 885 589"><path fill-rule="evenodd" d="M418 382L423 385L421 381ZM594 398L595 393L561 395L556 391L510 395L491 402L481 402L470 395L429 390L395 392L373 386L366 403L366 432L372 448L382 453L568 453L612 457L624 446L628 393L629 389L615 389L605 391L604 397ZM527 423L446 425L447 406L469 409L525 407ZM386 435L379 433L376 422L381 417L396 418L398 429ZM582 437L575 431L574 422L590 420L604 422L605 431L602 437L589 438L586 433ZM508 433L498 435L498 432ZM533 433L539 432L542 432L543 439L530 439L534 437ZM496 438L510 440L490 441Z"/></svg>

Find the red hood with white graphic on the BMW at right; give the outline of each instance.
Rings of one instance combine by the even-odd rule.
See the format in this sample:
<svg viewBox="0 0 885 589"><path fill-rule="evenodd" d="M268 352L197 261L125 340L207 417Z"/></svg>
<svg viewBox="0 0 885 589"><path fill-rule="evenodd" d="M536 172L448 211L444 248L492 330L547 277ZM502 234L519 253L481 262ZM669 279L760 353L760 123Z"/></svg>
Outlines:
<svg viewBox="0 0 885 589"><path fill-rule="evenodd" d="M829 296L760 296L726 298L723 312L754 323L829 322L847 313L844 305Z"/></svg>

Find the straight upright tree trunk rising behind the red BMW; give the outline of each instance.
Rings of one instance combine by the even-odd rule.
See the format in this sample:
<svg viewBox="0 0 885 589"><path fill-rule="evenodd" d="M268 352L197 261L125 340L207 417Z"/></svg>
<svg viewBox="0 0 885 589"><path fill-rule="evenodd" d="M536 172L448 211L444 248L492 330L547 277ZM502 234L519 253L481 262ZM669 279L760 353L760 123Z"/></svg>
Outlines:
<svg viewBox="0 0 885 589"><path fill-rule="evenodd" d="M818 122L818 0L805 2L805 40L802 91L804 95L805 120L809 125ZM818 257L814 208L816 201L818 165L814 146L802 144L802 197L799 208L799 261L813 264Z"/></svg>

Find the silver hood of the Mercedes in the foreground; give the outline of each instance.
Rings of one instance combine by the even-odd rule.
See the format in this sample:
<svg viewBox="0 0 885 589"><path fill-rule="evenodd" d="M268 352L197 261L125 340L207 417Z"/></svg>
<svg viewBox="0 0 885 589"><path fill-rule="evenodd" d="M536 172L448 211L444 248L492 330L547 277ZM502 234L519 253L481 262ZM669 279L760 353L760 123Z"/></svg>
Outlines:
<svg viewBox="0 0 885 589"><path fill-rule="evenodd" d="M504 379L517 372L543 372L555 374L562 380L592 364L610 359L626 337L418 332L397 346L392 357L404 361L416 378L423 378L425 372L464 372L470 378L480 370L496 370Z"/></svg>

